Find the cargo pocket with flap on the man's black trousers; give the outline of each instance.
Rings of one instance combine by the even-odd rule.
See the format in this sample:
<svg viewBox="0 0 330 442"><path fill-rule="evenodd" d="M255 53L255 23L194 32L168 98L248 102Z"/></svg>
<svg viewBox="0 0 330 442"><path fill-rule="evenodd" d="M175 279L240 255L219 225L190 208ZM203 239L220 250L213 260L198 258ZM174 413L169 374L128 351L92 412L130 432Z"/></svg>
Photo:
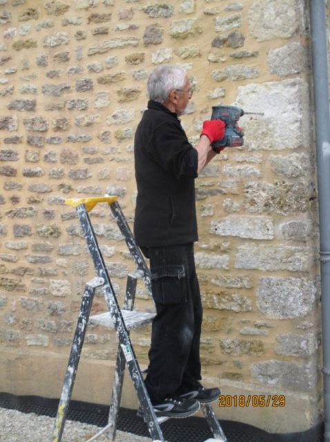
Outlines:
<svg viewBox="0 0 330 442"><path fill-rule="evenodd" d="M186 302L186 271L183 265L162 265L151 269L153 299L160 304Z"/></svg>

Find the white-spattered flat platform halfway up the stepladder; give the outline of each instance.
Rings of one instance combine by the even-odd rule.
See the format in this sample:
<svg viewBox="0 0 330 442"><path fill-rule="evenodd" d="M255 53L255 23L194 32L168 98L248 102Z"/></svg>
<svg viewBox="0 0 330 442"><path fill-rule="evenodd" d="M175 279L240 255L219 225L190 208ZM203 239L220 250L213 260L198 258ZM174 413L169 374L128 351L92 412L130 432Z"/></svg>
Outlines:
<svg viewBox="0 0 330 442"><path fill-rule="evenodd" d="M148 311L135 311L135 310L121 310L121 311L122 311L122 316L124 318L124 323L128 330L132 330L137 327L141 327L142 325L151 323L151 321L155 317L155 313L150 313ZM106 311L106 313L90 316L89 322L90 324L93 325L104 325L104 327L110 327L115 329L109 311Z"/></svg>

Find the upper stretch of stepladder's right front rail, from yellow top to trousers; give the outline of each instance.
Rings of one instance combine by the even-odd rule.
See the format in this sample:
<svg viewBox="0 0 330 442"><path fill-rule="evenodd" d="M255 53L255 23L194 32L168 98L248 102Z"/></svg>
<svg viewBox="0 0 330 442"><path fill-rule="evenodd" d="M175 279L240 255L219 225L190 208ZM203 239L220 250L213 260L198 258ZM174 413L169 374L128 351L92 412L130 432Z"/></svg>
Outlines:
<svg viewBox="0 0 330 442"><path fill-rule="evenodd" d="M139 271L142 271L143 274L142 279L144 280L144 284L146 285L146 289L148 290L149 295L152 297L150 270L146 265L146 261L144 260L144 256L142 255L139 247L137 247L137 244L133 237L133 233L130 230L128 222L124 217L124 213L122 212L122 209L119 206L119 202L117 201L112 202L111 204L109 204L109 206L115 217L119 230L122 232L122 235L124 236L128 250L130 251L130 254L133 257L137 269L139 269Z"/></svg>

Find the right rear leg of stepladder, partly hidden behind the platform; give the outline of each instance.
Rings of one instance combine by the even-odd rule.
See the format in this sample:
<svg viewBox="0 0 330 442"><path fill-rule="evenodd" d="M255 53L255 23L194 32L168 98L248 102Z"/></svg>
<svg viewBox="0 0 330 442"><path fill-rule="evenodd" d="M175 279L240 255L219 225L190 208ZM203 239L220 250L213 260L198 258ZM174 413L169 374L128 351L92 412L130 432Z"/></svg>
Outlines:
<svg viewBox="0 0 330 442"><path fill-rule="evenodd" d="M135 302L135 291L137 287L137 278L129 274L126 282L126 292L123 309L133 310ZM119 416L120 401L122 399L122 389L125 374L125 358L120 343L117 349L116 368L113 379L113 392L110 399L109 416L108 416L108 432L106 436L111 441L115 440L117 421Z"/></svg>

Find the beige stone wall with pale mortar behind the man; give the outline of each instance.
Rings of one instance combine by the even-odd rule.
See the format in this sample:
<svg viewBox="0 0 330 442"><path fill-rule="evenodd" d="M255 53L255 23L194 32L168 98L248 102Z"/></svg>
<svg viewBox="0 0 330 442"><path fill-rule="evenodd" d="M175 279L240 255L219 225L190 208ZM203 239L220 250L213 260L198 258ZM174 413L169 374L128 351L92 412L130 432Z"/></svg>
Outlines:
<svg viewBox="0 0 330 442"><path fill-rule="evenodd" d="M133 136L146 79L171 63L193 85L182 117L193 144L211 106L264 113L244 115L244 146L226 148L196 180L205 382L228 398L271 397L266 406L227 403L217 410L223 418L277 432L315 425L320 292L307 4L0 4L0 390L59 396L81 294L94 275L64 201L119 195L133 221ZM91 215L122 301L133 262L108 208ZM138 298L151 307L142 286ZM97 292L93 311L105 309ZM142 364L149 336L133 335ZM78 380L75 398L108 402L116 350L113 333L88 329L81 365L95 383L86 389L86 377ZM124 405L136 406L132 387L126 391ZM279 394L285 407L273 403Z"/></svg>

